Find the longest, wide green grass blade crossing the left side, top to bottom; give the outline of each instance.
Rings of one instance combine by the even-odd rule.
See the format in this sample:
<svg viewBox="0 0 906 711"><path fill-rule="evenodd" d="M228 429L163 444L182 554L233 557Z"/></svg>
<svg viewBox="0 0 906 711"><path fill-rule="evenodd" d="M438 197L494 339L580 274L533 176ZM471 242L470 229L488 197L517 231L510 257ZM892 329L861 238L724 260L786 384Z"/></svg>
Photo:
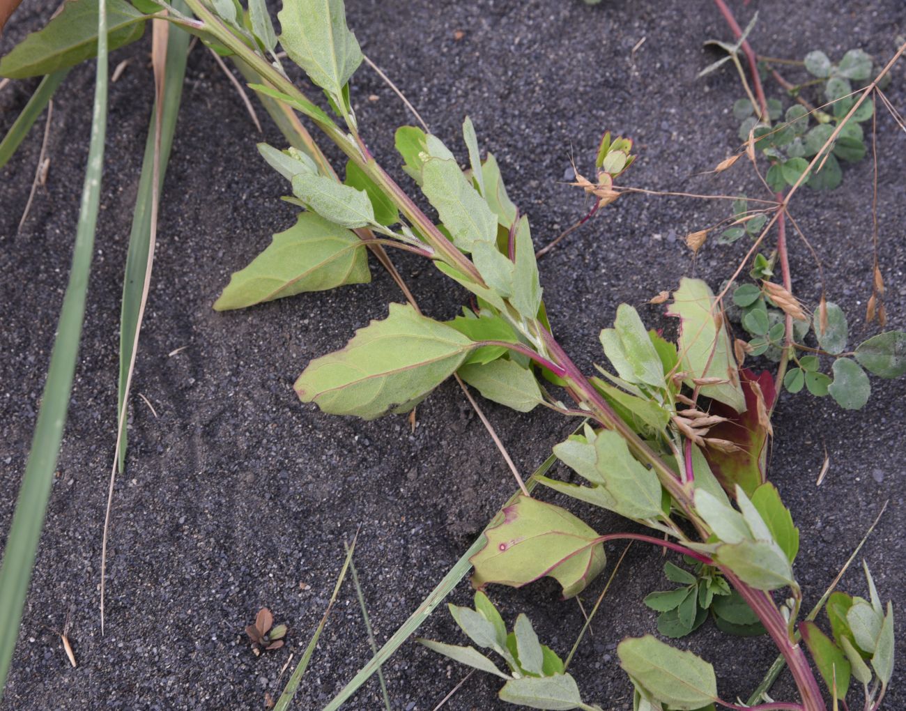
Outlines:
<svg viewBox="0 0 906 711"><path fill-rule="evenodd" d="M82 207L72 250L72 271L57 336L53 341L50 369L44 383L41 410L34 428L32 450L25 466L25 475L15 505L13 524L6 540L3 567L0 568L0 688L5 686L6 673L13 658L19 636L19 623L28 584L32 578L34 555L43 528L44 513L53 483L63 425L72 393L72 377L82 338L85 297L92 269L94 228L98 219L101 197L104 137L107 128L107 13L103 3L98 13L98 64L94 85L92 139L88 152L88 168L82 187ZM0 690L2 696L2 690Z"/></svg>

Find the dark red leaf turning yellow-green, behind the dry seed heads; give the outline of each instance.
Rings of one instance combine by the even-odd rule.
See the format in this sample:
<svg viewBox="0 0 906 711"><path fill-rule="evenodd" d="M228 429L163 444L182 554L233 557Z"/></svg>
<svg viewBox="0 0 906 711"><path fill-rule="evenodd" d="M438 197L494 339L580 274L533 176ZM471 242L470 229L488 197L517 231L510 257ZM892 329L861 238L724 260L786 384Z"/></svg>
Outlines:
<svg viewBox="0 0 906 711"><path fill-rule="evenodd" d="M737 414L722 403L712 402L711 414L727 418L727 421L718 423L708 433L708 437L726 439L739 449L725 452L716 447L706 447L704 454L714 476L728 492L740 485L748 495L752 495L766 478L766 417L776 395L774 379L769 372L756 375L744 368L739 371L739 376L746 400L745 412Z"/></svg>

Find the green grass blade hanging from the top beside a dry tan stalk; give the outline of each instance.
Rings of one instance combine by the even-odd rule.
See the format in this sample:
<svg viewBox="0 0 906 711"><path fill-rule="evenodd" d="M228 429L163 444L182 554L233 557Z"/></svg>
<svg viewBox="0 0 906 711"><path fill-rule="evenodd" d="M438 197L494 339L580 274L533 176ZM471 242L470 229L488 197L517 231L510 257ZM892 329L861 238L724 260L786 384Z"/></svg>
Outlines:
<svg viewBox="0 0 906 711"><path fill-rule="evenodd" d="M188 6L182 0L176 0L173 7L179 12L188 13ZM188 59L188 41L190 35L172 24L167 41L167 69L163 91L163 114L160 121L160 159L158 192L164 183L167 172L170 149L173 146L173 135L176 132L176 121L179 103L182 100L182 85L186 75ZM145 277L148 271L148 250L151 239L151 193L154 178L154 128L157 102L151 110L148 139L145 141L145 157L141 163L139 193L135 199L135 211L132 214L132 230L129 235L129 252L126 255L126 274L122 285L122 310L120 313L120 382L117 399L117 414L122 412L122 402L126 397L126 380L129 377L132 362L132 344L135 331L139 328L141 296L144 291ZM120 423L121 442L118 466L122 474L126 462L126 422Z"/></svg>

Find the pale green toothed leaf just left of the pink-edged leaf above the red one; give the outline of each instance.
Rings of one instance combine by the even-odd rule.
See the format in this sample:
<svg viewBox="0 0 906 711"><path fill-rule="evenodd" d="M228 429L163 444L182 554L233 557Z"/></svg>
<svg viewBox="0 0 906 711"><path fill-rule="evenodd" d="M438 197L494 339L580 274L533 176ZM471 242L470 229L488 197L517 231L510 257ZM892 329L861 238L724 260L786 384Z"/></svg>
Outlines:
<svg viewBox="0 0 906 711"><path fill-rule="evenodd" d="M604 354L623 380L654 388L664 385L664 369L658 351L641 322L639 312L628 303L617 307L612 329L601 331Z"/></svg>

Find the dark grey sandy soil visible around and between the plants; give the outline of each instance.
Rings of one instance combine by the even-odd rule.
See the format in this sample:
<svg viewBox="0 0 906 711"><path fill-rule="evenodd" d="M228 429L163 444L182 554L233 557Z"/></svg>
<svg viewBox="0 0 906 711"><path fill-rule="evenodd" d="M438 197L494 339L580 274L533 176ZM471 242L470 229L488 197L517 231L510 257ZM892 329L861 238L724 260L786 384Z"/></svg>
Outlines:
<svg viewBox="0 0 906 711"><path fill-rule="evenodd" d="M39 27L55 3L24 4L0 42L8 51ZM888 57L906 34L901 0L786 3L757 0L757 49L801 57L820 48L833 57L863 47ZM730 72L696 73L714 55L702 48L728 31L707 0L625 2L589 7L579 0L531 2L380 2L350 0L350 24L371 58L410 97L432 130L460 146L463 117L496 153L514 197L544 244L580 214L583 200L565 187L574 154L590 172L602 130L637 141L641 158L627 179L659 189L755 190L737 168L719 182L694 177L736 144L729 109L741 95ZM464 36L454 39L454 33ZM897 39L897 37L900 39ZM643 43L642 43L643 41ZM633 52L633 47L635 51ZM82 359L72 395L59 476L47 521L4 709L256 709L277 695L289 655L299 658L342 564L343 541L361 526L357 562L379 641L405 620L466 550L514 488L511 476L455 384L405 418L377 422L328 417L303 406L291 385L314 356L340 347L400 293L374 270L370 285L307 294L248 312L211 310L230 272L293 222L277 198L282 178L255 152L255 134L226 77L200 46L189 57L184 105L173 149L149 312L142 333L130 425L129 467L117 480L111 529L107 634L98 615L101 526L113 448L121 277L131 207L151 102L149 40L112 61L131 63L111 91L102 212ZM22 232L16 225L34 175L43 123L0 173L0 531L14 507L43 387L71 258L79 203L93 69L72 72L55 99L47 187L38 190ZM0 130L24 106L34 82L0 93ZM768 85L776 93L776 85ZM368 101L370 94L378 101ZM906 108L900 66L889 91ZM392 131L410 117L363 67L353 97L374 152L395 174ZM266 117L263 117L266 119ZM265 137L281 144L268 126ZM906 326L906 170L904 137L879 120L882 269L890 325ZM461 156L464 151L458 148ZM871 274L871 173L868 161L846 168L845 187L802 191L795 216L820 251L828 295L851 315L853 339L870 335L861 318ZM409 183L406 183L409 185ZM625 198L542 262L545 300L583 368L602 358L597 332L621 301L640 304L697 273L717 285L742 246L708 245L693 265L677 235L723 216L724 207L672 198ZM805 248L793 241L795 289L814 303L819 287ZM415 259L398 260L423 308L450 317L463 293ZM660 312L643 316L662 325ZM179 349L174 354L172 351ZM771 476L803 530L796 572L811 605L858 543L885 500L882 524L864 549L879 589L903 618L901 418L906 380L874 381L863 413L842 411L807 394L785 397L775 428ZM514 416L486 404L523 471L545 459L569 423L545 413ZM824 459L824 485L814 482ZM620 525L575 506L599 531ZM612 560L621 548L612 548ZM634 547L573 663L583 695L605 709L631 707L615 645L654 629L641 604L661 589L660 552ZM300 583L308 587L300 589ZM584 595L593 601L603 580ZM864 594L853 569L843 588ZM551 581L525 591L495 589L510 623L518 611L565 654L582 624L574 602L558 601ZM462 583L454 600L470 591ZM290 627L287 646L262 658L243 627L261 606ZM79 667L71 668L57 630L70 618ZM900 639L906 629L897 625ZM440 610L426 636L461 641ZM680 644L718 670L726 698L747 694L774 658L767 639L719 635L708 623ZM906 648L898 644L900 657ZM343 589L304 679L296 707L316 709L370 657L352 585ZM465 675L414 643L385 668L394 709L431 709ZM896 675L890 709L906 708ZM495 680L476 674L448 709L490 709ZM777 690L789 696L788 681ZM376 680L346 707L381 707Z"/></svg>

